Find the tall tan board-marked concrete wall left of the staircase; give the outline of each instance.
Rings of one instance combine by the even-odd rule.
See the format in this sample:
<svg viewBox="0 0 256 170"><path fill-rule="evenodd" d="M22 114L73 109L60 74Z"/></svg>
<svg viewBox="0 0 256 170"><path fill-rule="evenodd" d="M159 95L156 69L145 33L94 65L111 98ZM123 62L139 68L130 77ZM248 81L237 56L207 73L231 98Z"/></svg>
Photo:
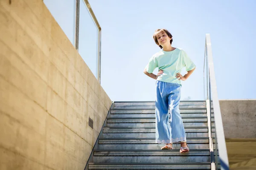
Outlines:
<svg viewBox="0 0 256 170"><path fill-rule="evenodd" d="M111 104L42 0L0 0L0 170L82 170Z"/></svg>

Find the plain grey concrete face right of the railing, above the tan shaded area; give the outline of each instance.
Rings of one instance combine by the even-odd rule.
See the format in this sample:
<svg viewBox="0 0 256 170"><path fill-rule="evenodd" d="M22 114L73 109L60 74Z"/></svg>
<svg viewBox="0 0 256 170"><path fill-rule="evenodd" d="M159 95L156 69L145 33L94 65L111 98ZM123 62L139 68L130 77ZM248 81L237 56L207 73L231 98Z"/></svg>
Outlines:
<svg viewBox="0 0 256 170"><path fill-rule="evenodd" d="M256 138L256 99L219 102L226 139Z"/></svg>

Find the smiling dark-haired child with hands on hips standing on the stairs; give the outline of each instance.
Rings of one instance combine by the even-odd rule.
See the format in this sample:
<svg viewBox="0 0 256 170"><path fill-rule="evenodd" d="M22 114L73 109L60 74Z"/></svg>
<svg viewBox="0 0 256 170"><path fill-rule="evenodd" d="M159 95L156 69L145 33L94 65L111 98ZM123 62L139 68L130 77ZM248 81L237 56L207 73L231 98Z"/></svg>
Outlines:
<svg viewBox="0 0 256 170"><path fill-rule="evenodd" d="M166 29L157 29L154 41L161 51L154 54L148 62L144 73L156 79L157 97L155 102L156 143L166 144L161 149L172 149L173 143L180 143L180 153L189 152L186 134L180 116L181 80L185 81L195 70L195 64L181 48L172 47L172 34ZM153 74L155 68L157 75ZM186 67L187 74L180 74ZM169 122L169 108L171 119Z"/></svg>

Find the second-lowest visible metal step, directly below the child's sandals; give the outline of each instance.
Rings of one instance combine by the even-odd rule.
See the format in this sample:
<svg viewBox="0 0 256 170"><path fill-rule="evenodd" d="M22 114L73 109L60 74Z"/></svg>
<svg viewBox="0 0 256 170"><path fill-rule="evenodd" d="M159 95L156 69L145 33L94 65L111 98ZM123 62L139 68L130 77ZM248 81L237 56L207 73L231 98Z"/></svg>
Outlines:
<svg viewBox="0 0 256 170"><path fill-rule="evenodd" d="M167 162L208 162L209 149L193 150L180 154L179 150L94 150L95 163L167 163Z"/></svg>

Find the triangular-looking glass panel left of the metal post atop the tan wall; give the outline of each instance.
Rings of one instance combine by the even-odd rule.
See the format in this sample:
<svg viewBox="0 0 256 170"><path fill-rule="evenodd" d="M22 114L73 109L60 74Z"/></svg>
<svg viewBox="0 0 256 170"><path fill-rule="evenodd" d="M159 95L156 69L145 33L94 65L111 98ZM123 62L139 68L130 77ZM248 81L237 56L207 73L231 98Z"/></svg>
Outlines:
<svg viewBox="0 0 256 170"><path fill-rule="evenodd" d="M44 0L58 25L75 45L76 0Z"/></svg>

